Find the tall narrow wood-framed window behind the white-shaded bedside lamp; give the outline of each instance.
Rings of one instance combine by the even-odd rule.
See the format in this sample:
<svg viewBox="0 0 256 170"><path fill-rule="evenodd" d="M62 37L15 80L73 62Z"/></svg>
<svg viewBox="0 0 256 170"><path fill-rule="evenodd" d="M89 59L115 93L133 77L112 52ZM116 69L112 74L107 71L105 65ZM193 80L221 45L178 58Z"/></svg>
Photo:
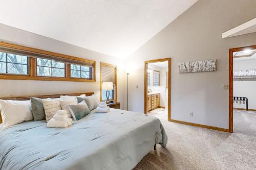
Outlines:
<svg viewBox="0 0 256 170"><path fill-rule="evenodd" d="M116 66L108 63L100 63L100 100L106 100L106 91L102 90L102 82L113 82L113 90L110 90L109 100L117 100L117 75Z"/></svg>

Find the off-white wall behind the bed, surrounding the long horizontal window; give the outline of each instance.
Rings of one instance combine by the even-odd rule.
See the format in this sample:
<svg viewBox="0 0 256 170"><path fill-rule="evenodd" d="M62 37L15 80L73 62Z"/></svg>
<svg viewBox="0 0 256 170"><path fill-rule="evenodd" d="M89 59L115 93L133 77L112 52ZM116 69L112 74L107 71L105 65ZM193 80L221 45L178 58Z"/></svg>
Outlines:
<svg viewBox="0 0 256 170"><path fill-rule="evenodd" d="M96 61L96 82L0 80L0 96L94 92L99 99L99 66L100 62L106 62L117 65L117 98L121 102L121 108L126 108L123 61L2 24L0 24L0 40Z"/></svg>

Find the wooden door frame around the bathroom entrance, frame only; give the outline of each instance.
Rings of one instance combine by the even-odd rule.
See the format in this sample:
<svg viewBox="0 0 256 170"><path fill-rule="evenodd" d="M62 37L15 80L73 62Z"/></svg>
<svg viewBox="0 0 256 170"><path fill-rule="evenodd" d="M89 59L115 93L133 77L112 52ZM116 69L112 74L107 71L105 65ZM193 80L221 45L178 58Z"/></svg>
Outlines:
<svg viewBox="0 0 256 170"><path fill-rule="evenodd" d="M156 62L163 62L163 61L167 61L168 62L168 121L171 121L170 118L170 85L171 85L171 58L163 58L163 59L155 59L155 60L147 60L145 61L144 64L144 113L147 114L147 64L149 63L156 63Z"/></svg>

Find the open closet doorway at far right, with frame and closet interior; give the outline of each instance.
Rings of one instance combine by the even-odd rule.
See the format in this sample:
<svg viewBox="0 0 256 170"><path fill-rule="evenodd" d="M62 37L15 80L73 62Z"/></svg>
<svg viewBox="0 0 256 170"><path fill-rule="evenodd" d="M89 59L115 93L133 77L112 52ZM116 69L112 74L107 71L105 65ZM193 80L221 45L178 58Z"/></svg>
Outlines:
<svg viewBox="0 0 256 170"><path fill-rule="evenodd" d="M239 119L256 113L253 83L256 85L256 45L229 49L229 132L231 133L234 118ZM241 120L239 121L241 124Z"/></svg>

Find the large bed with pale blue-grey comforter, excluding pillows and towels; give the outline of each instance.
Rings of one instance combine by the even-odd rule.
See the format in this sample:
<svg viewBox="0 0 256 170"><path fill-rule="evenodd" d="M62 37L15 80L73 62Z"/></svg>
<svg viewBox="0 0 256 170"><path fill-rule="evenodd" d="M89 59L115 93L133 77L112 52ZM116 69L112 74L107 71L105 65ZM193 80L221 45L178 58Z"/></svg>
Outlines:
<svg viewBox="0 0 256 170"><path fill-rule="evenodd" d="M132 169L156 143L167 143L158 118L119 109L92 111L65 129L0 124L0 169Z"/></svg>

